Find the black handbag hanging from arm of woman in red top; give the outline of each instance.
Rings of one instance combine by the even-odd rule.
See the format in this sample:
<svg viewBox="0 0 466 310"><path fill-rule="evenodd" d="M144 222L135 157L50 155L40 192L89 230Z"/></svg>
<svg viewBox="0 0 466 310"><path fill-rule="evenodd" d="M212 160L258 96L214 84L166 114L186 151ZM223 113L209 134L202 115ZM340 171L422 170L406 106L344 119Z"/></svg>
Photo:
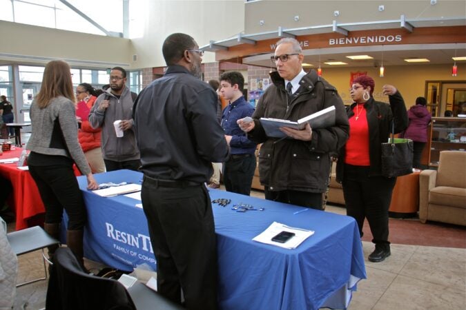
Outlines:
<svg viewBox="0 0 466 310"><path fill-rule="evenodd" d="M391 137L382 143L382 176L394 178L413 172L413 141L395 138L395 125L391 121Z"/></svg>

